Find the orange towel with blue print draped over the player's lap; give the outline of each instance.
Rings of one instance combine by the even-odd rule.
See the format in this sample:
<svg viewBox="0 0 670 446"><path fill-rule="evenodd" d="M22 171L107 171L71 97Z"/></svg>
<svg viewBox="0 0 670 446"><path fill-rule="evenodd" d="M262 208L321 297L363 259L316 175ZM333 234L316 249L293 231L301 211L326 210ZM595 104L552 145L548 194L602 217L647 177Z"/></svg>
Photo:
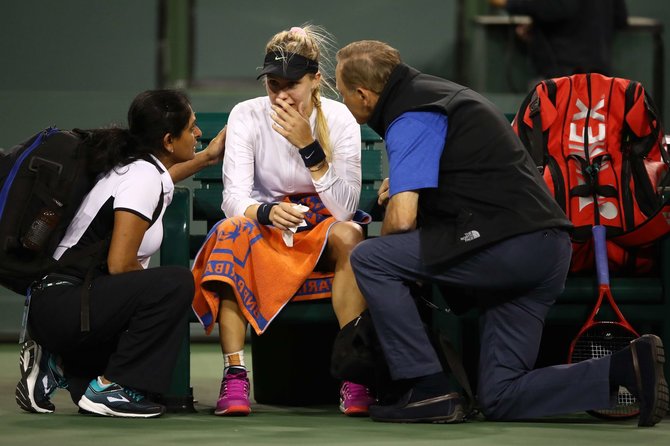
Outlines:
<svg viewBox="0 0 670 446"><path fill-rule="evenodd" d="M293 235L293 247L282 231L246 217L221 220L207 235L192 272L196 284L193 310L211 333L218 320L219 296L213 282L232 287L239 307L257 334L265 331L284 306L294 300L331 297L333 273L313 272L326 246L329 216L318 197L291 199L310 208L307 227Z"/></svg>

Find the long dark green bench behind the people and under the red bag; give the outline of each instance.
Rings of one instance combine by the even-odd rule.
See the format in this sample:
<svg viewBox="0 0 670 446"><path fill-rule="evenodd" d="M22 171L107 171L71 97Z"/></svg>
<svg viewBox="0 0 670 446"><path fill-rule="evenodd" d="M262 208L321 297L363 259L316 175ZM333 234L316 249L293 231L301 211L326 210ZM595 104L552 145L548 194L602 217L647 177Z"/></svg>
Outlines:
<svg viewBox="0 0 670 446"><path fill-rule="evenodd" d="M227 120L226 113L199 113L198 124L206 144ZM513 116L510 117L510 119ZM360 208L375 220L381 213L376 205L377 188L383 178L381 138L367 126L361 127L362 178ZM191 193L177 187L164 219L161 264L190 266L205 235L190 230L191 202L194 221L205 221L207 228L223 217L221 205L221 166L205 169L194 176L198 187ZM650 277L611 279L617 303L640 333L656 333L670 345L670 239L658 244L659 273ZM549 255L549 254L548 254ZM572 337L584 323L597 296L594 277L569 277L565 292L558 298L546 320L538 366L563 363ZM438 304L439 293L433 293ZM603 312L607 310L603 309ZM455 317L448 312L433 312L433 325L444 328L463 353L469 375L476 376L478 328L476 312ZM192 319L195 321L195 318ZM184 345L166 402L173 410L192 410L190 388L189 330L184 330ZM337 321L330 301L294 302L273 321L263 336L252 334L254 397L258 403L302 405L337 401L337 386L329 375L330 345L337 332ZM670 376L670 361L666 374ZM307 389L294 392L294 389Z"/></svg>

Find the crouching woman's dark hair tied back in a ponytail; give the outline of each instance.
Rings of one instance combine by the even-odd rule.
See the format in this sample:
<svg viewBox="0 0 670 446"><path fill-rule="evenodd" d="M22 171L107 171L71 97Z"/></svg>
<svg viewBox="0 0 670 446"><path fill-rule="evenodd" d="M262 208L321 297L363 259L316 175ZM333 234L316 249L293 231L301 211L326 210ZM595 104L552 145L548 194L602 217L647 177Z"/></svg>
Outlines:
<svg viewBox="0 0 670 446"><path fill-rule="evenodd" d="M92 174L105 173L161 153L163 137L179 137L191 118L191 103L176 90L148 90L128 109L128 128L91 130L85 144Z"/></svg>

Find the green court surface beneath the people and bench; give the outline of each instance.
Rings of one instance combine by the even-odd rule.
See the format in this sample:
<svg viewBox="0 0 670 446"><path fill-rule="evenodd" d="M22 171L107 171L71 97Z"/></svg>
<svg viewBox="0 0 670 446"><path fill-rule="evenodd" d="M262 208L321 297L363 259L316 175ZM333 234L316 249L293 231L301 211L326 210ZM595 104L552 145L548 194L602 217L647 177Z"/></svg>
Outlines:
<svg viewBox="0 0 670 446"><path fill-rule="evenodd" d="M604 422L573 414L533 422L458 425L387 424L348 418L337 407L284 407L252 404L249 417L212 415L222 359L217 344L193 343L191 379L197 413L135 420L84 416L66 391L52 401L53 414L29 414L14 401L19 379L19 346L0 344L0 445L670 445L670 418L653 428L634 420ZM251 363L248 360L248 363ZM253 379L253 370L251 373ZM278 383L281 385L281 383Z"/></svg>

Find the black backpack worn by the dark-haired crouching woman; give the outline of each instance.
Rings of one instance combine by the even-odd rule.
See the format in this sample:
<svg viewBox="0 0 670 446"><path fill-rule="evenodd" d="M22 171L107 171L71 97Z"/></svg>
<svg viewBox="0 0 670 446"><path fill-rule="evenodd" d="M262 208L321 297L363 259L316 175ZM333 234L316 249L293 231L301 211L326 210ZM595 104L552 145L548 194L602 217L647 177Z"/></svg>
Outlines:
<svg viewBox="0 0 670 446"><path fill-rule="evenodd" d="M50 127L0 157L0 285L25 295L56 268L52 254L94 185L87 134Z"/></svg>

